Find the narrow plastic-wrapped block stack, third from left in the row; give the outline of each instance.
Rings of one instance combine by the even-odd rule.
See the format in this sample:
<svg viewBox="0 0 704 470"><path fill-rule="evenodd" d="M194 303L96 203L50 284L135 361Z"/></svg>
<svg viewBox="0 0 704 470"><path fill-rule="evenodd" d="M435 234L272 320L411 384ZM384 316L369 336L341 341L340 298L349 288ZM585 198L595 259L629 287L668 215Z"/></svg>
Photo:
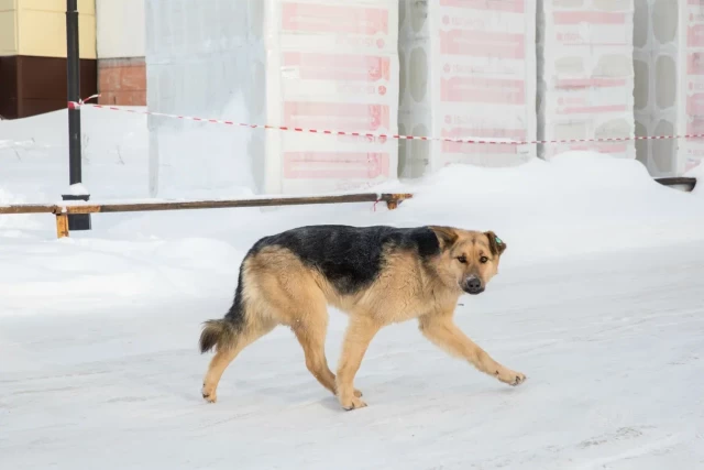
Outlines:
<svg viewBox="0 0 704 470"><path fill-rule="evenodd" d="M538 1L540 140L634 136L632 0ZM546 144L636 156L632 140Z"/></svg>

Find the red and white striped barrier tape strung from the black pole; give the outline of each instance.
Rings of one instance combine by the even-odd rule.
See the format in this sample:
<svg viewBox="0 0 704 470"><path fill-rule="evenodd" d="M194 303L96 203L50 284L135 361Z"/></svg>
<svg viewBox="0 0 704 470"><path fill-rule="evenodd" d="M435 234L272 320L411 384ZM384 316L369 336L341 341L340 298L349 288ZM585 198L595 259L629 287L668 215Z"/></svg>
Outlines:
<svg viewBox="0 0 704 470"><path fill-rule="evenodd" d="M287 125L268 125L268 124L252 124L244 122L228 121L222 119L210 118L195 118L191 116L167 114L164 112L154 111L139 111L135 109L124 109L117 106L106 105L87 105L94 98L98 98L100 95L92 95L85 100L68 101L68 109L79 109L85 106L91 108L108 109L110 111L130 112L133 114L146 114L158 116L162 118L182 119L185 121L207 122L211 124L224 124L237 125L240 128L250 129L265 129L274 131L288 131L288 132L304 132L312 134L328 134L328 135L351 135L372 139L398 139L398 140L417 140L417 141L441 141L441 142L459 142L459 143L472 143L472 144L492 144L492 145L531 145L531 144L548 144L548 143L583 143L583 142L626 142L631 140L664 140L664 139L704 139L704 134L684 134L684 135L646 135L646 136L627 136L627 138L604 138L604 139L564 139L564 140L535 140L535 141L490 141L481 139L455 139L455 138L436 138L424 135L400 135L400 134L384 134L375 132L351 132L351 131L333 131L327 129L306 129L306 128L293 128Z"/></svg>

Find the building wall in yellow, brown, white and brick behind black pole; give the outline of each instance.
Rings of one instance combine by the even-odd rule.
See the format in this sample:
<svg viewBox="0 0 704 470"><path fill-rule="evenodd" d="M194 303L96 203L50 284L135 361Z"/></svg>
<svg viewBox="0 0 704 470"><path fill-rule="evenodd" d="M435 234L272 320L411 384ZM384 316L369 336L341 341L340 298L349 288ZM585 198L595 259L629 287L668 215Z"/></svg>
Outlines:
<svg viewBox="0 0 704 470"><path fill-rule="evenodd" d="M143 106L144 0L78 0L80 95ZM0 0L0 116L66 108L66 0Z"/></svg>

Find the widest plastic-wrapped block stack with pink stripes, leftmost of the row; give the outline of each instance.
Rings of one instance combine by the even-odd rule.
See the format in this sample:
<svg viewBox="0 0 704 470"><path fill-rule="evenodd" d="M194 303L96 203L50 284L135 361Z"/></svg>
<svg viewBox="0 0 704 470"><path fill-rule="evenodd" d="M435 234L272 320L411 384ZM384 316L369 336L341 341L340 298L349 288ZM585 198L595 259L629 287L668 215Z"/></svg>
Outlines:
<svg viewBox="0 0 704 470"><path fill-rule="evenodd" d="M321 131L398 131L396 0L147 0L146 18L152 110ZM398 165L393 139L163 118L151 120L151 131L152 194L356 189L395 178Z"/></svg>

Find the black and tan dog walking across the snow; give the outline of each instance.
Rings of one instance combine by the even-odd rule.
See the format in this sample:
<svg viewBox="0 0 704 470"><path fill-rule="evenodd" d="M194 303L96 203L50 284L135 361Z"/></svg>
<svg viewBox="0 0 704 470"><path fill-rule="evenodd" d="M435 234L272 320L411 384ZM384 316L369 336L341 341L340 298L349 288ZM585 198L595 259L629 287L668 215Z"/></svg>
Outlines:
<svg viewBox="0 0 704 470"><path fill-rule="evenodd" d="M444 226L307 226L264 237L240 265L229 311L204 323L200 352L215 348L216 354L202 396L215 403L232 360L284 325L302 347L307 369L342 408L362 408L353 382L370 342L381 328L410 319L449 354L519 385L525 374L496 362L453 321L459 297L484 292L506 247L493 231ZM349 315L337 375L324 352L328 305Z"/></svg>

